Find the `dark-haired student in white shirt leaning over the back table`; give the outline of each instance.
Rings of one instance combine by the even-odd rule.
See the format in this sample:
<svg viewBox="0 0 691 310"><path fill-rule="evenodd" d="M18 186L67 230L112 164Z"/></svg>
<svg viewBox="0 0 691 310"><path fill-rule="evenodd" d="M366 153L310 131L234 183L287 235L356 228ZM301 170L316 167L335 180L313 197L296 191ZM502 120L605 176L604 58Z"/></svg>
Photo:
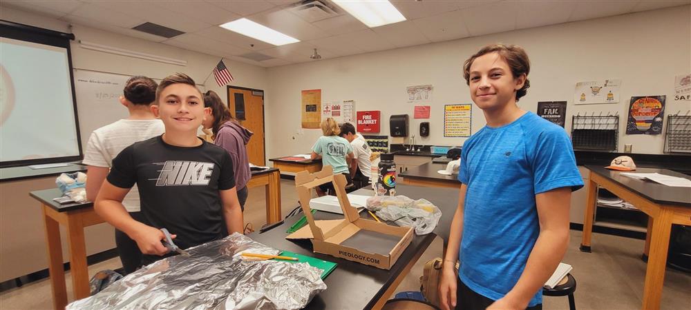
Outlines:
<svg viewBox="0 0 691 310"><path fill-rule="evenodd" d="M355 126L351 123L343 123L341 125L341 136L350 142L352 146L353 160L350 161L350 177L358 184L367 184L370 182L370 174L372 173L372 149L365 141L361 134L355 133Z"/></svg>

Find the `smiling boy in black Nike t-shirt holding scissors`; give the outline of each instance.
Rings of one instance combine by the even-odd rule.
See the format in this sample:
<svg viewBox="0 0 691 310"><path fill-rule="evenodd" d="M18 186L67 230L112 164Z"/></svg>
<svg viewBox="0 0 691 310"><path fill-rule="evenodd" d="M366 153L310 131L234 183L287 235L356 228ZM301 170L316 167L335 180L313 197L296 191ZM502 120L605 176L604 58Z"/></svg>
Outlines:
<svg viewBox="0 0 691 310"><path fill-rule="evenodd" d="M182 73L163 79L151 110L165 133L123 149L94 203L98 215L137 242L144 265L172 255L161 228L182 249L222 238L223 225L230 234L243 231L230 155L196 136L210 109L194 81ZM150 225L133 220L122 205L135 184Z"/></svg>

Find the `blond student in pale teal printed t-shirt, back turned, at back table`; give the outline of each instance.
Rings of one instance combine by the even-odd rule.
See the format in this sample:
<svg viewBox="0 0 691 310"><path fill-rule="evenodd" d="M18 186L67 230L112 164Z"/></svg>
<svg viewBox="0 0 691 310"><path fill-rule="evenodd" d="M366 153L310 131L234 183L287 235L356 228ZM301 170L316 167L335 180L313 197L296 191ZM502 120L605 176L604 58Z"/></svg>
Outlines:
<svg viewBox="0 0 691 310"><path fill-rule="evenodd" d="M320 158L325 166L331 166L334 174L343 174L348 180L348 185L352 185L348 162L352 161L352 147L348 140L339 136L339 124L333 118L326 118L321 122L321 132L324 134L314 143L312 147L312 159ZM332 183L326 183L316 187L316 194L324 196L329 189L333 189Z"/></svg>

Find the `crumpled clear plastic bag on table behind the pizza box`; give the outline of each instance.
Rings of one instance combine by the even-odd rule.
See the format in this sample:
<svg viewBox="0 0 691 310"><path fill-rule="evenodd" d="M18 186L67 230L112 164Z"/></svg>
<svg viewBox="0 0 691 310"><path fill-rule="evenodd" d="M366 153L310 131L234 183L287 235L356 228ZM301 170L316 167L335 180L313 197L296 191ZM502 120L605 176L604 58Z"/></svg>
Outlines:
<svg viewBox="0 0 691 310"><path fill-rule="evenodd" d="M373 196L367 199L365 207L382 220L415 228L417 235L432 232L442 218L442 211L428 200L406 196Z"/></svg>

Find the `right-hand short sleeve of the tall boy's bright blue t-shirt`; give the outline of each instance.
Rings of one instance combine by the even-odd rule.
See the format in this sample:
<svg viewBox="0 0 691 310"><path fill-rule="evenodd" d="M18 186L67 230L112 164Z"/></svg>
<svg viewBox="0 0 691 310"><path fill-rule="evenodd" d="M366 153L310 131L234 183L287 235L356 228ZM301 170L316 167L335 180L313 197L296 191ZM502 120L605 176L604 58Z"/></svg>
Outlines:
<svg viewBox="0 0 691 310"><path fill-rule="evenodd" d="M559 187L571 191L583 187L583 178L576 167L576 156L566 132L547 130L540 134L533 159L533 187L535 194Z"/></svg>

